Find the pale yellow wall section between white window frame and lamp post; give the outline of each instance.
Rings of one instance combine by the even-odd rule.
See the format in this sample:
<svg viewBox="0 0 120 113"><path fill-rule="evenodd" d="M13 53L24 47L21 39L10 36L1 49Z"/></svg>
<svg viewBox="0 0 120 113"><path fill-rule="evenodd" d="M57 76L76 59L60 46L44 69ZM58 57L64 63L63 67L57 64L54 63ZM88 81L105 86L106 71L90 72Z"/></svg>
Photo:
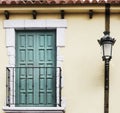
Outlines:
<svg viewBox="0 0 120 113"><path fill-rule="evenodd" d="M103 15L66 16L64 95L68 113L103 112L103 62L97 43L103 34Z"/></svg>

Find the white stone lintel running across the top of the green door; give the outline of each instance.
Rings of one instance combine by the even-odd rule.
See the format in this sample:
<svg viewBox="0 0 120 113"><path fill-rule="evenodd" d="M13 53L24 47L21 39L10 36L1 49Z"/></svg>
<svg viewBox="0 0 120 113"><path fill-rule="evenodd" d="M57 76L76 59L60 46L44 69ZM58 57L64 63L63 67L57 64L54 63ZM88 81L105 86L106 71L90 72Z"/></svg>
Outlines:
<svg viewBox="0 0 120 113"><path fill-rule="evenodd" d="M67 21L62 19L53 19L53 20L5 20L4 28L31 28L31 29L40 29L40 28L66 28Z"/></svg>

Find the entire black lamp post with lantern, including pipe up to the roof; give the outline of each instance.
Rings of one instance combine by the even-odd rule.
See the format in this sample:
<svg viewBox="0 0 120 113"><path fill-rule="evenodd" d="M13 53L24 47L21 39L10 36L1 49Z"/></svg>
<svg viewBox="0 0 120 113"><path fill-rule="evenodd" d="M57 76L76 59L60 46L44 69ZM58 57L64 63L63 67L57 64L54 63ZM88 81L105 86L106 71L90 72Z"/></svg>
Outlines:
<svg viewBox="0 0 120 113"><path fill-rule="evenodd" d="M104 113L109 113L109 61L112 58L112 46L115 39L110 37L110 4L105 4L105 32L104 36L98 40L103 49L102 59L105 61L104 78Z"/></svg>

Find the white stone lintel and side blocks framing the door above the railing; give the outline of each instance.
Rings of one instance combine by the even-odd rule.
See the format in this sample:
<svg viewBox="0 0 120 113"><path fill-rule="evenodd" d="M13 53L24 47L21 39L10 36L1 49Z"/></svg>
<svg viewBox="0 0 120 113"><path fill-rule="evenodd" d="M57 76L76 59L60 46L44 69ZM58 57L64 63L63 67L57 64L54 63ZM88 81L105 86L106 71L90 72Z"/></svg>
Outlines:
<svg viewBox="0 0 120 113"><path fill-rule="evenodd" d="M15 57L15 30L41 30L41 29L56 29L56 45L57 45L57 66L60 67L61 58L59 50L65 46L65 29L67 27L66 20L5 20L4 28L6 30L6 47L8 56ZM14 66L15 62L9 60L9 66Z"/></svg>

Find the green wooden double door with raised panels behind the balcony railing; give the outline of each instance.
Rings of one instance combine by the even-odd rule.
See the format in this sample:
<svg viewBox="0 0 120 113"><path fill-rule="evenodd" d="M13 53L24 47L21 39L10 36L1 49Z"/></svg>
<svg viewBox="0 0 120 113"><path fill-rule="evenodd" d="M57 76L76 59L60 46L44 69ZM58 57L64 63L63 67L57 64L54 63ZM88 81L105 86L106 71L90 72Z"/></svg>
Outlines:
<svg viewBox="0 0 120 113"><path fill-rule="evenodd" d="M56 105L55 31L16 31L16 106Z"/></svg>

